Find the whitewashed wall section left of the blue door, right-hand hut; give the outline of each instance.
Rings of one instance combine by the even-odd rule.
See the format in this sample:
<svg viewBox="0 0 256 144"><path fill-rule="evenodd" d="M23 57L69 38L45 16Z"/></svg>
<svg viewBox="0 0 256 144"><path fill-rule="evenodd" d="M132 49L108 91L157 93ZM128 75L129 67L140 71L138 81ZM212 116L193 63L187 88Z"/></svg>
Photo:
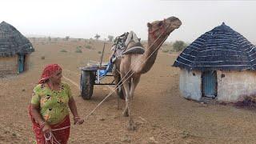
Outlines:
<svg viewBox="0 0 256 144"><path fill-rule="evenodd" d="M202 97L201 72L181 69L179 88L183 97L199 101Z"/></svg>

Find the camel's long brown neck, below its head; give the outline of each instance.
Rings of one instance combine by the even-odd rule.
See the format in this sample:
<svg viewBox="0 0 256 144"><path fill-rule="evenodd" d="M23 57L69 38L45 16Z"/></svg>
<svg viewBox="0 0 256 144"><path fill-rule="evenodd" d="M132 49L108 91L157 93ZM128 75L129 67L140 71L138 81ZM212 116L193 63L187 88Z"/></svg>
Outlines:
<svg viewBox="0 0 256 144"><path fill-rule="evenodd" d="M158 50L162 46L162 42L165 41L167 37L166 34L162 34L160 38L153 38L152 36L148 36L148 46L146 48L145 54L142 55L142 63L141 66L138 66L139 73L148 72L151 67L154 65L154 61L157 58Z"/></svg>

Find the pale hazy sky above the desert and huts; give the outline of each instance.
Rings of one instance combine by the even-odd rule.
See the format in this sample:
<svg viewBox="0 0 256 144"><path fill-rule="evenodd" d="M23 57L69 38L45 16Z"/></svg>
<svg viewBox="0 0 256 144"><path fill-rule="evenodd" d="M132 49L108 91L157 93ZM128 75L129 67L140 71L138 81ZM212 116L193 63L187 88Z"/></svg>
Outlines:
<svg viewBox="0 0 256 144"><path fill-rule="evenodd" d="M133 30L147 39L147 22L175 16L182 26L168 42L193 42L225 22L256 44L256 1L1 0L0 22L26 36L100 39Z"/></svg>

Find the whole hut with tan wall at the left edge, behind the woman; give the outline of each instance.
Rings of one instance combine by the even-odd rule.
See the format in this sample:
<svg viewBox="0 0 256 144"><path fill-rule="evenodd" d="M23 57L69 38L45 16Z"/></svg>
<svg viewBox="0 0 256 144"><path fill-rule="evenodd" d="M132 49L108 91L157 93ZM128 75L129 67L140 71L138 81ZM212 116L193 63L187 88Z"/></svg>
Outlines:
<svg viewBox="0 0 256 144"><path fill-rule="evenodd" d="M0 23L0 76L28 70L29 56L34 52L30 41L14 26Z"/></svg>

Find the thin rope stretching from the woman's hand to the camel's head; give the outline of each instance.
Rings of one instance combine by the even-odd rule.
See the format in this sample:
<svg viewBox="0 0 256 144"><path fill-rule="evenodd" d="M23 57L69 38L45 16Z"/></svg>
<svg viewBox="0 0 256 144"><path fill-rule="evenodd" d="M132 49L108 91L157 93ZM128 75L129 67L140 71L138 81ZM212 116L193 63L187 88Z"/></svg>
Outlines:
<svg viewBox="0 0 256 144"><path fill-rule="evenodd" d="M169 26L170 26L170 24L169 24ZM167 26L167 28L168 28L169 26ZM162 34L163 34L163 32L162 32ZM162 36L162 34L160 34L160 35L158 36L158 38L160 38L160 37ZM154 43L157 42L158 38L154 40L153 44L148 48L148 50L150 50L150 48L151 48L152 46L154 46ZM168 37L166 37L166 38L168 38ZM166 38L164 38L164 40L158 45L158 47L161 46L162 43L166 41ZM154 54L154 52L155 52L156 50L158 50L158 47L153 51L152 54ZM146 54L146 52L145 52L144 54ZM142 55L144 55L144 54L142 54ZM150 57L152 56L152 54L150 54L150 56L149 56L148 58L150 58ZM146 60L147 60L148 58L146 58ZM141 60L141 58L139 58L138 60ZM138 60L137 60L137 62L138 62ZM146 61L145 61L145 62L146 62ZM145 63L145 62L143 62L143 63ZM136 62L135 62L135 63L136 63ZM131 66L130 70L132 70L132 68L134 68L134 66L135 66L135 65ZM130 70L126 73L126 75L129 74ZM132 74L134 74L134 72L133 72ZM120 82L122 82L122 80L123 80L124 78L126 78L126 79L125 79L123 82L126 82L126 80L129 79L132 74L130 74L130 76L129 76L128 78L126 78L126 75L125 75L125 76L118 82L117 86L120 84ZM114 90L117 90L117 89L118 89L118 87L116 87ZM109 98L110 95L114 93L114 90L112 90L112 91L110 92L110 94L108 94L108 95L106 96L106 98ZM102 100L102 102L104 102L104 101L106 100L106 98L104 98L104 99ZM99 102L98 105L94 108L94 110L91 110L90 113L86 115L86 119L88 119L88 117L89 117L91 114L94 113L94 111L98 108L98 106L101 106L101 105L102 105L102 102Z"/></svg>

